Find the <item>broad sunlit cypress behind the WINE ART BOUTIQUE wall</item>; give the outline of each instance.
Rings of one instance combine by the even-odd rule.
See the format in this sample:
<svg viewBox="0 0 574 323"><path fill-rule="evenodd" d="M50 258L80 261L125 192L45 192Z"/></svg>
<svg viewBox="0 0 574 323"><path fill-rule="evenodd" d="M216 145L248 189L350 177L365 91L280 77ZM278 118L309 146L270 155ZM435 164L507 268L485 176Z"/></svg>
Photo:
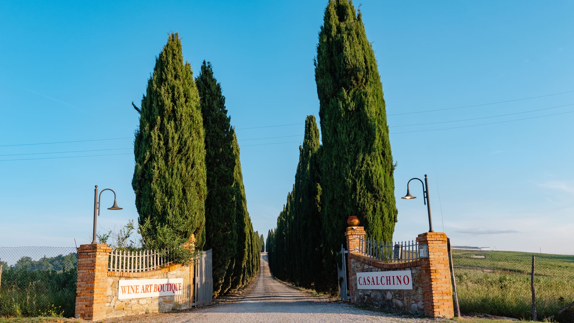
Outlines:
<svg viewBox="0 0 574 323"><path fill-rule="evenodd" d="M188 240L203 247L205 148L199 95L177 33L156 57L139 110L131 182L145 243Z"/></svg>

